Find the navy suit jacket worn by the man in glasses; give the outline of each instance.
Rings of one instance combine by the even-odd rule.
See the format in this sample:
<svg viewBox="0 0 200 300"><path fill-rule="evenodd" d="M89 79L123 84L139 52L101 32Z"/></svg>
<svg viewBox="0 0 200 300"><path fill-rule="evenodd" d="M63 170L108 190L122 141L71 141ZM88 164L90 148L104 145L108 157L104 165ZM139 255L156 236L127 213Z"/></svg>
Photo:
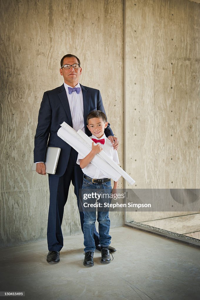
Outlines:
<svg viewBox="0 0 200 300"><path fill-rule="evenodd" d="M105 113L100 91L81 85L83 94L83 111L85 133L91 136L87 128L88 113L94 110L101 110ZM64 84L46 91L43 95L39 115L38 125L35 134L34 162L45 161L47 146L61 148L60 157L56 173L54 176L62 176L67 168L71 146L57 136L60 124L66 122L72 127L72 116ZM110 124L105 129L106 137L114 136Z"/></svg>

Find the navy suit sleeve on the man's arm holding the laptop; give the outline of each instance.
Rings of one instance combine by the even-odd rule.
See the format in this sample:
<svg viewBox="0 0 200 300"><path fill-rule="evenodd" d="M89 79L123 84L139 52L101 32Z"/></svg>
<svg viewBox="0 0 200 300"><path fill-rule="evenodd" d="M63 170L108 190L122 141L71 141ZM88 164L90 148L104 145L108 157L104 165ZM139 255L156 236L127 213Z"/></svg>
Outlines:
<svg viewBox="0 0 200 300"><path fill-rule="evenodd" d="M34 162L45 161L45 154L51 127L51 105L48 93L45 92L38 114L38 125L35 134Z"/></svg>

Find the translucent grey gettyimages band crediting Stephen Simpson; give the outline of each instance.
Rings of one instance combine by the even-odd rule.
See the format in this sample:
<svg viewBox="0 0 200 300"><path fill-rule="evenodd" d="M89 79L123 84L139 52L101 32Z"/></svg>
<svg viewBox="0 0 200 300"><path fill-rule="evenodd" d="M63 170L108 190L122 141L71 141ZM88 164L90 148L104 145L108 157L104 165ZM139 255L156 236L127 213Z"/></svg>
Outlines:
<svg viewBox="0 0 200 300"><path fill-rule="evenodd" d="M200 211L200 189L81 189L79 211Z"/></svg>

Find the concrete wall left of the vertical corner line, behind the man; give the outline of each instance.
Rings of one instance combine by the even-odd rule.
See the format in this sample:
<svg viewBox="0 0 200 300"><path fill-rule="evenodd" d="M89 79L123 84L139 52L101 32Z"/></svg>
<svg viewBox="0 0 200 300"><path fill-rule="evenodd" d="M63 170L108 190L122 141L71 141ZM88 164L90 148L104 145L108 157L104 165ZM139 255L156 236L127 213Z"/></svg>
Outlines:
<svg viewBox="0 0 200 300"><path fill-rule="evenodd" d="M0 245L4 247L46 237L48 176L32 172L31 165L42 95L63 83L59 72L63 55L77 55L83 69L80 82L100 89L120 139L123 164L123 1L2 0L0 14ZM112 213L111 221L113 227L122 225L123 213ZM63 234L80 232L71 188Z"/></svg>

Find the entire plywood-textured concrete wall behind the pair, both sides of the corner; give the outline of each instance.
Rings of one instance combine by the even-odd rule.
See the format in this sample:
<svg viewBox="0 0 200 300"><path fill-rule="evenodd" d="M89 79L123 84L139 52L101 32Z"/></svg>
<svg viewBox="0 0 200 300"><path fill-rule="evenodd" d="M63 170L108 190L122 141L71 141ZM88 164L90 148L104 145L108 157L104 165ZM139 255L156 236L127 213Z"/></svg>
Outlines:
<svg viewBox="0 0 200 300"><path fill-rule="evenodd" d="M30 171L33 139L66 53L80 58L81 83L100 89L136 187L199 187L199 4L1 0L0 13L2 247L46 237L48 178ZM111 223L122 225L123 213ZM79 232L71 188L63 233Z"/></svg>

